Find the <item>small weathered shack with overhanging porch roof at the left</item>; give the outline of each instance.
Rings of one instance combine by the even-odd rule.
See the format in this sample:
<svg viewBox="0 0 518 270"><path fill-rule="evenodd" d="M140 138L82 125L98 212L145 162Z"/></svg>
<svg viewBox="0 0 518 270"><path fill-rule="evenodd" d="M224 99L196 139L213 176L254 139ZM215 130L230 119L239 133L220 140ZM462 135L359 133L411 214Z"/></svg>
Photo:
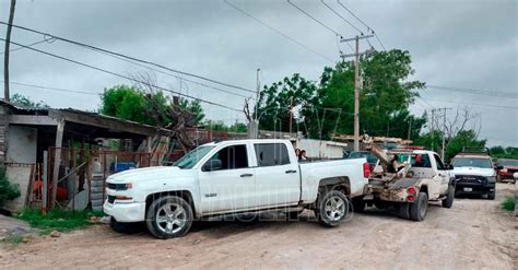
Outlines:
<svg viewBox="0 0 518 270"><path fill-rule="evenodd" d="M25 108L1 101L0 163L3 164L8 179L19 184L22 192L8 207L15 209L28 206L35 196L35 181L44 179L48 181L50 198L56 199L59 186L67 185L64 181L58 185L63 175L69 176L71 180L68 181L74 185L73 190L69 189L69 199L73 198L83 189L84 183L91 181L94 160L97 163L104 162L105 171L110 165L107 164L109 159L106 155L99 156L99 138L131 141L128 151L141 153L140 161L148 159L142 164L151 165L155 159L150 154L152 143L158 136L166 133L167 130L157 127L96 113L70 108ZM46 166L43 166L44 153L48 153ZM142 157L142 154L146 155ZM132 160L134 159L133 156ZM117 155L115 160L117 161ZM40 192L46 193L46 190ZM54 206L56 200L48 201Z"/></svg>

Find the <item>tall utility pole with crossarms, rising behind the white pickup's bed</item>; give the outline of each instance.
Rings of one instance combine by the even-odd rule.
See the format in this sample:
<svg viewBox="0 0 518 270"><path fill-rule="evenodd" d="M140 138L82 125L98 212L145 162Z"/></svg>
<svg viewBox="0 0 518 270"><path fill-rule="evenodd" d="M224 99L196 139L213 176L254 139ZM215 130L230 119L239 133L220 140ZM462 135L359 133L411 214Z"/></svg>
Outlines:
<svg viewBox="0 0 518 270"><path fill-rule="evenodd" d="M360 52L360 39L369 38L373 35L356 36L353 38L341 39L341 43L354 40L356 48L352 55L342 55L343 58L354 56L354 151L360 150L360 55L366 55L369 51Z"/></svg>

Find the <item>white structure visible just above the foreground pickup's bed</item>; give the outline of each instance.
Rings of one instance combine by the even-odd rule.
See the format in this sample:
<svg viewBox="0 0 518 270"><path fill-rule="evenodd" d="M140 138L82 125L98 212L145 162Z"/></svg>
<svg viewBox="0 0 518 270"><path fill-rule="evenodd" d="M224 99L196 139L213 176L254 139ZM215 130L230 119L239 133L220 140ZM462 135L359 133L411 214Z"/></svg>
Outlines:
<svg viewBox="0 0 518 270"><path fill-rule="evenodd" d="M297 139L294 146L306 150L306 156L309 159L342 159L348 144L334 141Z"/></svg>

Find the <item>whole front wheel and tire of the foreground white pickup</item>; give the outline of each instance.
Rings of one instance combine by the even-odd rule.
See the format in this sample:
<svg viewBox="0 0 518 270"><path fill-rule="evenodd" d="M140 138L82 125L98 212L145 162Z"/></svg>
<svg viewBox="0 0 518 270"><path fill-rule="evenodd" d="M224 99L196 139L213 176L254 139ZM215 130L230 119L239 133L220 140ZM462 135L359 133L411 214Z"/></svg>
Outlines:
<svg viewBox="0 0 518 270"><path fill-rule="evenodd" d="M187 234L192 220L192 207L186 200L177 196L165 196L149 206L145 225L153 236L167 239Z"/></svg>

